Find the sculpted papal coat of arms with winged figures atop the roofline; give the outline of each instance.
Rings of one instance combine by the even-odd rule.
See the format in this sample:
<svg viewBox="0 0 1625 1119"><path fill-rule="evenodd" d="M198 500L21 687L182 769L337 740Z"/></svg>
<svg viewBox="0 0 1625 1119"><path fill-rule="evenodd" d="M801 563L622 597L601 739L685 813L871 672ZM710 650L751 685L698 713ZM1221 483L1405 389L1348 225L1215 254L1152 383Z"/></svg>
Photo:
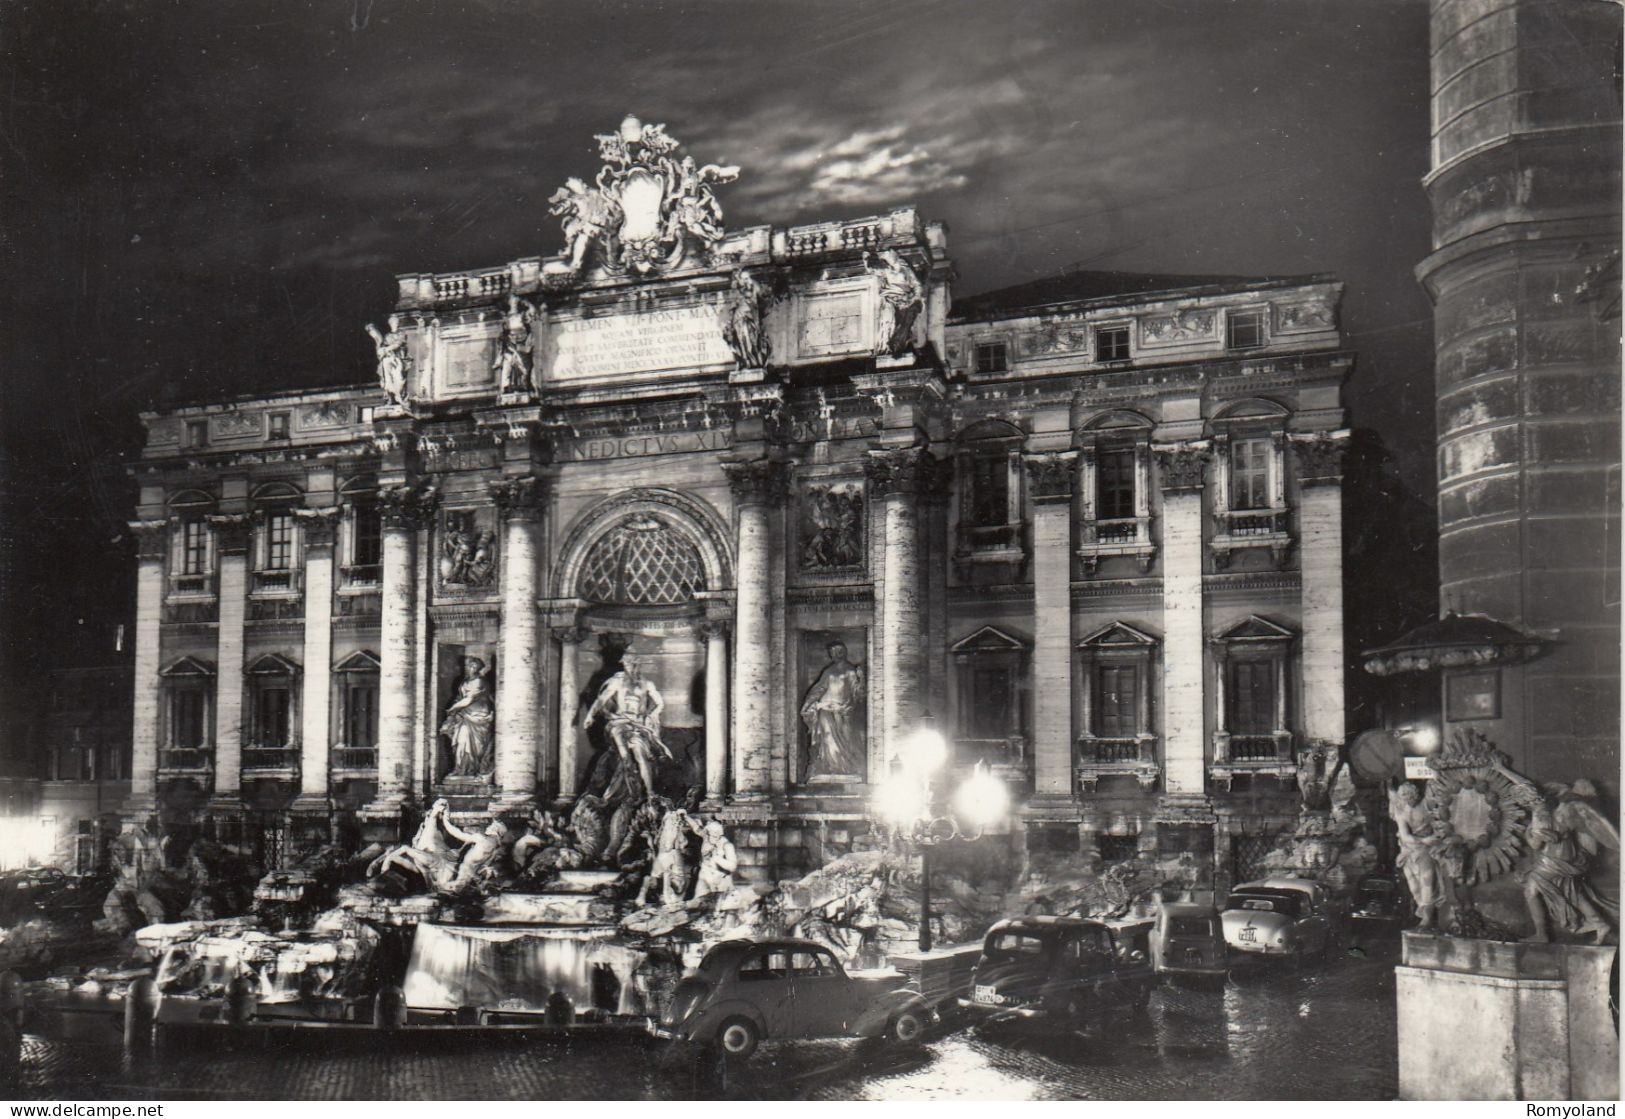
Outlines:
<svg viewBox="0 0 1625 1119"><path fill-rule="evenodd" d="M738 179L738 167L679 159L679 145L666 127L637 117L595 138L604 161L596 185L569 179L548 200L569 240L566 260L549 265L549 271L578 273L593 245L606 268L639 276L676 268L691 252L717 247L723 224L712 185Z"/></svg>

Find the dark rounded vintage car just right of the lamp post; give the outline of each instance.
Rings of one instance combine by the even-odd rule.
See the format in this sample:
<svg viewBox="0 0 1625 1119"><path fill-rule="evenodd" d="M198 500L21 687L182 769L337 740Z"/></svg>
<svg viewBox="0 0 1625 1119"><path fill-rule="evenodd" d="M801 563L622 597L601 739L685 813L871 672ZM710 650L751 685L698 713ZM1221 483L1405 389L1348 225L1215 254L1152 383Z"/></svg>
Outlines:
<svg viewBox="0 0 1625 1119"><path fill-rule="evenodd" d="M1150 921L1012 918L982 944L970 997L959 1005L983 1015L1055 1013L1074 1022L1120 1007L1144 1007L1157 974L1150 966Z"/></svg>

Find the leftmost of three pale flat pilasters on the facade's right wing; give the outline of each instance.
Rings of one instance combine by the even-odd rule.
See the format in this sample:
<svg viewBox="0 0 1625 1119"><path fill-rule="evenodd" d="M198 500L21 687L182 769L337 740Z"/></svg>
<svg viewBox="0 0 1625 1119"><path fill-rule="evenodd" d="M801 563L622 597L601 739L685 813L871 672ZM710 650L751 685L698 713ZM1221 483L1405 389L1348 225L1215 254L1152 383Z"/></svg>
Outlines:
<svg viewBox="0 0 1625 1119"><path fill-rule="evenodd" d="M1077 451L1029 455L1034 793L1072 793L1072 476ZM1087 693L1087 685L1086 685Z"/></svg>

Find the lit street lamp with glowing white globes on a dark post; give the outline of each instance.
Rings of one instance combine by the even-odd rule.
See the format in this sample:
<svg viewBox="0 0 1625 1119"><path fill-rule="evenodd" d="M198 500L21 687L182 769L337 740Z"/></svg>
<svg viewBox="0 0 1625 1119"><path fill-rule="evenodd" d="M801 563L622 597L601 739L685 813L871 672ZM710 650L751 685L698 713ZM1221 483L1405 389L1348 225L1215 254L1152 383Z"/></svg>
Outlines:
<svg viewBox="0 0 1625 1119"><path fill-rule="evenodd" d="M936 773L946 762L947 739L926 713L920 729L902 741L890 773L874 791L874 810L892 833L920 848L921 952L931 950L931 848L949 840L980 840L1009 812L1004 781L990 773L985 762L977 762L949 799L951 809L938 815Z"/></svg>

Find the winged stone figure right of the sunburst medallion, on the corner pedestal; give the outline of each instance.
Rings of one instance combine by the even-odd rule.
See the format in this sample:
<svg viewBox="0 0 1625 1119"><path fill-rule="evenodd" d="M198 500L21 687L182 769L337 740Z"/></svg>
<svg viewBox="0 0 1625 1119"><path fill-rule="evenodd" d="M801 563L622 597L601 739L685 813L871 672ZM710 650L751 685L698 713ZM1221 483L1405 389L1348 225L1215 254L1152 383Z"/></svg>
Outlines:
<svg viewBox="0 0 1625 1119"><path fill-rule="evenodd" d="M1602 944L1618 922L1618 908L1586 882L1591 856L1607 848L1620 849L1620 835L1597 806L1591 781L1547 786L1557 804L1542 806L1529 820L1529 848L1534 862L1523 874L1524 903L1534 922L1534 942L1552 939L1552 926L1591 935Z"/></svg>

